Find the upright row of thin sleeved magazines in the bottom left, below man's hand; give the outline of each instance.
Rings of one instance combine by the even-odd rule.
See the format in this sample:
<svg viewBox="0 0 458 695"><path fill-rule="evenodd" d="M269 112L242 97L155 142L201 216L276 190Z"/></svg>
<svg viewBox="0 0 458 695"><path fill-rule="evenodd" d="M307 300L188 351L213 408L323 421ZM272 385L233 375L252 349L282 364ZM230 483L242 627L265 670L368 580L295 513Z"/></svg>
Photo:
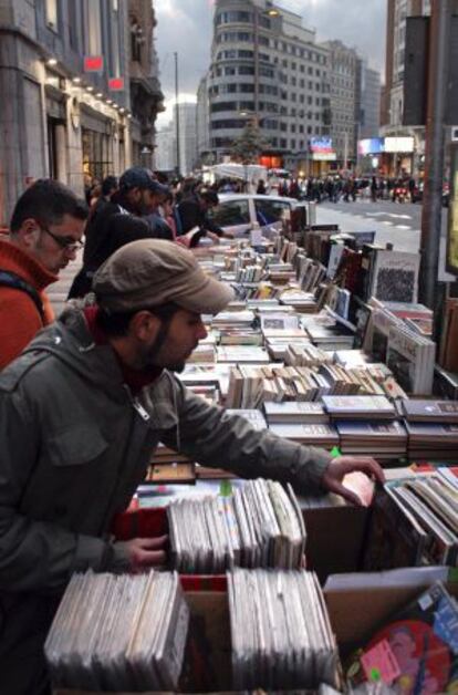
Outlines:
<svg viewBox="0 0 458 695"><path fill-rule="evenodd" d="M178 574L74 574L44 645L54 686L176 691L189 611Z"/></svg>

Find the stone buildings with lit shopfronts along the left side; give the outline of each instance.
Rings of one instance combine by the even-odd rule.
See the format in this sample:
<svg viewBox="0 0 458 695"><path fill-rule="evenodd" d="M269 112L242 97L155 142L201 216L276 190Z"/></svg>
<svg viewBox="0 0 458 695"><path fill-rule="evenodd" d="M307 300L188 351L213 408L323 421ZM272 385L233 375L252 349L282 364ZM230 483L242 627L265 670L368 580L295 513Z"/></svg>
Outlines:
<svg viewBox="0 0 458 695"><path fill-rule="evenodd" d="M133 40L137 17L144 42ZM145 143L153 152L162 105L154 27L148 2L0 0L0 226L34 178L82 194L137 163ZM97 55L102 70L85 72L84 56Z"/></svg>

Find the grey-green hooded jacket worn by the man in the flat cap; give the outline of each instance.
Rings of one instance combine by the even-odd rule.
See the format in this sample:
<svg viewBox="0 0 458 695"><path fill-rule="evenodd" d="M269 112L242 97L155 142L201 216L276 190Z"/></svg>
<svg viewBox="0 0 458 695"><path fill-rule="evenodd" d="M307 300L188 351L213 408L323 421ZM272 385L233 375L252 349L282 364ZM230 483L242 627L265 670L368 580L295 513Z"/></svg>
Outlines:
<svg viewBox="0 0 458 695"><path fill-rule="evenodd" d="M126 567L110 527L159 440L207 466L289 480L302 491L316 491L330 461L321 449L256 432L167 371L134 398L115 353L94 345L79 310L43 330L1 373L0 429L2 673L38 604L50 606L48 629L72 572Z"/></svg>

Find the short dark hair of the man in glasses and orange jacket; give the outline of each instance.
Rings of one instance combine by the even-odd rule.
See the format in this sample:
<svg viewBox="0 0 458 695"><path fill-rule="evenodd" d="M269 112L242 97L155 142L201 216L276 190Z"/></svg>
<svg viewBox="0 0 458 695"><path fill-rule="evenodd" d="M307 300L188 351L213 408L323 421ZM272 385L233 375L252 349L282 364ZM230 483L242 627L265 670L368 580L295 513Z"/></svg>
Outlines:
<svg viewBox="0 0 458 695"><path fill-rule="evenodd" d="M87 218L89 209L84 200L67 186L52 178L40 178L18 199L10 230L19 231L24 220L30 217L48 227L59 225L64 215L84 220Z"/></svg>

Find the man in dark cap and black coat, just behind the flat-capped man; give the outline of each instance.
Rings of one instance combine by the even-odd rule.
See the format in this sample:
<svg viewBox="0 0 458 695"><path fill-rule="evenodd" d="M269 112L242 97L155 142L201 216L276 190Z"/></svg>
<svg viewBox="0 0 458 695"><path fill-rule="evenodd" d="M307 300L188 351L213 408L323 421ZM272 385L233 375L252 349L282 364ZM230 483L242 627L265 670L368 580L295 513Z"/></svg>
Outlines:
<svg viewBox="0 0 458 695"><path fill-rule="evenodd" d="M94 209L85 229L83 267L73 280L69 299L91 291L94 272L119 247L155 236L146 218L168 193L144 167L126 169L110 201Z"/></svg>

